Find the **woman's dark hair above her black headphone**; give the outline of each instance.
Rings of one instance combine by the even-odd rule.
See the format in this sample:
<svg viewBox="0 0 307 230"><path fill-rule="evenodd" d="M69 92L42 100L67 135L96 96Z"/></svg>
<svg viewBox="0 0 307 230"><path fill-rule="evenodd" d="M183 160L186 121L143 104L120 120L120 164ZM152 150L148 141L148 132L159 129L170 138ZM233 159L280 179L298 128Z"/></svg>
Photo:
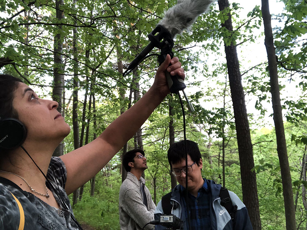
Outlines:
<svg viewBox="0 0 307 230"><path fill-rule="evenodd" d="M14 91L18 87L19 78L9 74L0 74L0 118L16 118L18 113L13 108Z"/></svg>

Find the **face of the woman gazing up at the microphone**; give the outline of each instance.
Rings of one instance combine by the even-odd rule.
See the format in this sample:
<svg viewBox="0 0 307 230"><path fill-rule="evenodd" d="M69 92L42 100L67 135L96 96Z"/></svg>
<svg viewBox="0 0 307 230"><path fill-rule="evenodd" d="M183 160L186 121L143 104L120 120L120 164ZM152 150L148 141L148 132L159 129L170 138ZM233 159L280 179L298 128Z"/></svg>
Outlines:
<svg viewBox="0 0 307 230"><path fill-rule="evenodd" d="M13 107L28 134L26 140L61 141L70 132L69 125L56 110L58 103L38 98L28 85L19 82L14 92Z"/></svg>

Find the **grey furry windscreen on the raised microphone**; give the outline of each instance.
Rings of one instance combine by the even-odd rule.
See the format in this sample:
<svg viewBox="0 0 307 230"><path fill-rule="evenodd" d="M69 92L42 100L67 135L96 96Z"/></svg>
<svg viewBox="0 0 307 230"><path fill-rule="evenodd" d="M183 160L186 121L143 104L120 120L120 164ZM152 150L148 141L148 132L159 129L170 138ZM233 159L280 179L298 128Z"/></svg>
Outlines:
<svg viewBox="0 0 307 230"><path fill-rule="evenodd" d="M177 4L164 13L158 25L166 28L172 38L188 29L196 18L204 13L215 0L178 0Z"/></svg>

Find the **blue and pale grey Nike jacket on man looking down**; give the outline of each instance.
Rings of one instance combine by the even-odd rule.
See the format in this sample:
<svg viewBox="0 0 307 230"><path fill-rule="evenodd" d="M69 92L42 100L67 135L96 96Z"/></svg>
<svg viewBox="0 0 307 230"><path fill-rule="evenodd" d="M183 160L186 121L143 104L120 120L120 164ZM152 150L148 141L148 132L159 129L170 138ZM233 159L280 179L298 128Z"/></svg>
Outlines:
<svg viewBox="0 0 307 230"><path fill-rule="evenodd" d="M220 189L222 186L220 184L216 184L212 180L207 180L207 179L204 179L204 180L207 181L208 188L211 192L210 194L210 203L211 203L210 217L211 218L210 219L211 219L212 230L233 230L233 223L232 223L229 213L222 205L220 205L220 202L221 202ZM181 190L180 185L177 185L172 190L172 194L171 194L171 204L173 205L172 214L178 218L181 218L181 220L185 222L185 212L184 210L182 210L184 208L184 205L182 203L183 200L181 199L180 190ZM235 219L234 219L235 221L234 229L235 230L252 230L253 228L252 228L251 221L248 216L248 212L247 212L245 205L235 193L229 191L229 195L230 195L233 205L238 206L237 212L235 214ZM175 204L177 204L177 207ZM175 205L175 208L174 208L174 205ZM161 200L160 200L154 212L155 220L159 220L160 216L163 214L164 213L163 213ZM166 228L163 227L162 225L155 226L155 230L162 230L162 229L166 229ZM183 230L187 230L187 224L184 224Z"/></svg>

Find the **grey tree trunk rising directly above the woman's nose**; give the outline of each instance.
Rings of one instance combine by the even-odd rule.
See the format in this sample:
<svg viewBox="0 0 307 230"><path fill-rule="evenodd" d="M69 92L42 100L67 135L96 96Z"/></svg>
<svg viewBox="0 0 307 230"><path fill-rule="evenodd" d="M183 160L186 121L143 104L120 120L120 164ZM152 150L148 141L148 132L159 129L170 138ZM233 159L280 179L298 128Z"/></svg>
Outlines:
<svg viewBox="0 0 307 230"><path fill-rule="evenodd" d="M64 12L61 10L64 5L63 0L55 0L56 5L56 19L58 21L64 19ZM53 45L53 88L52 88L52 100L59 103L57 111L62 114L62 91L63 91L63 79L64 79L64 65L63 65L63 37L61 36L62 26L55 27L54 45ZM62 156L63 148L60 144L53 153L53 156Z"/></svg>

